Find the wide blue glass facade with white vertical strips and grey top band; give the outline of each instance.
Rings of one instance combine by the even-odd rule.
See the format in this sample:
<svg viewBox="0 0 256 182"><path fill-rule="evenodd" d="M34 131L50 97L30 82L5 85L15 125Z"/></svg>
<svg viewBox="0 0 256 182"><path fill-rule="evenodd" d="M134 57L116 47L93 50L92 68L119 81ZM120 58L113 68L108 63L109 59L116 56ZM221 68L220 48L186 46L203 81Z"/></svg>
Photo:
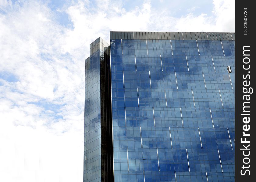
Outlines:
<svg viewBox="0 0 256 182"><path fill-rule="evenodd" d="M115 182L234 181L234 39L110 32Z"/></svg>

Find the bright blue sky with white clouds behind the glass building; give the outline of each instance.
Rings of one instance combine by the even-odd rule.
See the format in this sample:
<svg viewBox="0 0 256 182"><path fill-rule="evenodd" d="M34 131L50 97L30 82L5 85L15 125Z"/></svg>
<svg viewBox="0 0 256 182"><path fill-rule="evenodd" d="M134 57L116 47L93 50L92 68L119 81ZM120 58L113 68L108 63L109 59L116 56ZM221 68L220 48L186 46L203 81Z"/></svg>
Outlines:
<svg viewBox="0 0 256 182"><path fill-rule="evenodd" d="M109 31L234 32L233 0L0 0L0 181L83 181L84 72Z"/></svg>

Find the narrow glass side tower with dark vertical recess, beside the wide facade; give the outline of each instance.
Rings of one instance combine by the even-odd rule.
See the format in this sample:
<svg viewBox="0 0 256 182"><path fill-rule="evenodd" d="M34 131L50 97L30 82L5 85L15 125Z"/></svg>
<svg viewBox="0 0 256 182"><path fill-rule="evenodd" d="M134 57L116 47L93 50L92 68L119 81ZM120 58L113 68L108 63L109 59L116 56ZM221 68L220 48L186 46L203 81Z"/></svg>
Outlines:
<svg viewBox="0 0 256 182"><path fill-rule="evenodd" d="M91 43L85 60L84 182L113 181L109 45Z"/></svg>

